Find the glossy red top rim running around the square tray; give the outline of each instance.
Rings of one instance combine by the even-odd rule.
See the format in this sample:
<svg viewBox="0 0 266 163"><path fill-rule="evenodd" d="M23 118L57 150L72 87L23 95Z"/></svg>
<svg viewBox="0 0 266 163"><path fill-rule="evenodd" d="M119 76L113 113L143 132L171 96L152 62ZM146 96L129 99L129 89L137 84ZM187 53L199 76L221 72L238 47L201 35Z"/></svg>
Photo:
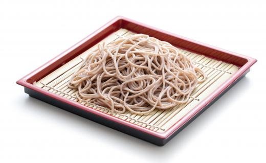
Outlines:
<svg viewBox="0 0 266 163"><path fill-rule="evenodd" d="M44 90L42 88L39 88L39 87L37 87L37 86L35 86L35 85L27 82L28 79L30 79L32 76L34 76L37 73L39 73L40 71L42 71L42 69L44 69L45 67L53 64L54 62L56 62L58 59L62 58L63 56L68 55L69 52L71 52L71 51L75 50L76 48L78 48L78 46L82 45L85 41L90 40L91 38L93 38L94 36L96 36L98 33L100 33L101 31L103 31L107 27L109 27L112 24L114 24L114 22L117 22L117 21L120 21L120 20L129 21L129 22L132 22L132 23L134 23L136 25L144 26L144 27L150 28L152 30L165 33L167 35L171 35L173 37L182 38L182 39L187 40L187 41L192 42L192 43L200 44L200 45L206 46L206 47L211 48L211 49L214 49L214 50L218 50L218 51L221 51L221 52L224 52L224 53L228 53L230 55L238 56L238 57L247 59L247 62L243 66L241 66L239 68L239 70L235 74L233 74L227 81L225 81L223 84L221 84L219 88L215 89L211 93L211 95L209 95L207 98L203 99L203 101L201 103L199 103L198 105L196 105L192 110L190 110L187 114L185 114L184 117L181 120L179 120L178 122L176 122L175 124L173 124L169 129L167 129L164 132L156 132L156 131L149 130L149 129L147 129L145 127L142 127L142 126L139 126L139 125L136 125L136 124L132 124L132 123L130 123L128 121L119 119L119 118L114 117L112 115L109 115L107 113L101 112L99 110L95 110L95 109L93 109L91 107L88 107L88 106L84 106L84 105L82 105L80 103L77 103L75 101L71 101L69 99L63 98L63 97L61 97L59 95L53 94L52 92L46 91L46 90ZM72 105L74 107L77 107L79 109L82 109L82 110L85 110L85 111L94 113L94 114L99 115L99 116L101 116L103 118L106 118L108 120L117 122L117 123L119 123L121 125L126 125L128 127L132 127L134 129L140 130L142 132L146 132L148 134L151 134L153 136L156 136L156 137L165 139L165 138L168 138L171 134L173 134L176 130L180 129L183 125L185 125L198 112L200 112L202 109L204 109L204 107L207 106L209 103L211 103L217 96L219 96L221 94L221 92L223 92L227 87L229 87L232 83L234 83L234 81L236 81L245 72L247 72L248 69L256 61L257 61L256 59L251 58L251 57L248 57L248 56L245 56L245 55L240 55L240 54L237 54L237 53L234 53L234 52L230 52L230 51L227 51L227 50L224 50L224 49L217 48L217 47L212 46L212 45L209 45L209 44L205 44L205 43L202 43L202 42L198 42L198 41L195 41L195 40L192 40L192 39L189 39L189 38L180 36L180 35L176 35L176 34L173 34L173 33L170 33L170 32L167 32L167 31L164 31L164 30L161 30L161 29L158 29L158 28L154 28L154 27L151 27L151 26L142 24L141 22L138 22L138 21L135 21L135 20L132 20L132 19L123 17L123 16L117 16L114 19L112 19L109 22L107 22L107 24L105 24L104 26L102 26L101 28L99 28L98 30L96 30L95 32L93 32L92 34L88 35L87 37L85 37L81 41L79 41L76 44L74 44L73 46L71 46L71 48L69 48L68 50L65 50L64 52L62 52L61 54L57 55L56 57L54 57L50 61L46 62L45 64L43 64L40 67L38 67L37 69L35 69L33 72L31 72L28 75L26 75L25 77L19 79L16 83L19 84L19 85L21 85L21 86L24 86L24 87L33 89L35 91L38 91L41 94L47 95L47 96L49 96L51 98L54 98L56 100L59 100L61 102L65 102L65 103L67 103L69 105Z"/></svg>

